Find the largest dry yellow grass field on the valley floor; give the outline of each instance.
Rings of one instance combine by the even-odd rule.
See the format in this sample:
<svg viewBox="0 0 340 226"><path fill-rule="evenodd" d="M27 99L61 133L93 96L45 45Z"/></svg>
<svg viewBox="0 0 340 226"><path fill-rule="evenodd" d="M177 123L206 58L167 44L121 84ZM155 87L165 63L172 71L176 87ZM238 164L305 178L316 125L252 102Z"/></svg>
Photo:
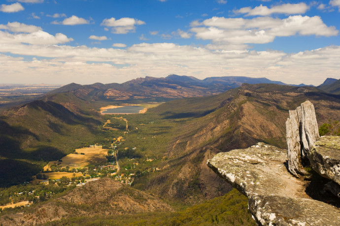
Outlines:
<svg viewBox="0 0 340 226"><path fill-rule="evenodd" d="M78 154L68 154L64 158L62 158L63 162L59 166L61 167L69 167L70 169L78 169L84 168L91 164L104 164L106 162L105 155L107 155L107 149L102 149L102 146L94 146L94 147L84 147L75 149ZM84 155L80 154L84 153ZM58 165L58 161L51 161L47 166L44 167L44 170L49 169L49 166L56 164Z"/></svg>

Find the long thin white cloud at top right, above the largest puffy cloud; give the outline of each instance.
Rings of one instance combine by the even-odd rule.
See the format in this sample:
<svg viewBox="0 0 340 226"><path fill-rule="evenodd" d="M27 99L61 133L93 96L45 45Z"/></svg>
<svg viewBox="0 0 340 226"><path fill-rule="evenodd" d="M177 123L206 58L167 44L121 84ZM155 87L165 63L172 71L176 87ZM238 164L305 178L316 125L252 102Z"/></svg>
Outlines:
<svg viewBox="0 0 340 226"><path fill-rule="evenodd" d="M268 8L267 6L256 6L255 8L244 7L238 10L234 10L235 13L246 14L246 16L269 16L273 13L282 13L282 14L301 14L305 13L309 9L309 6L306 3L297 3L297 4L282 4L276 5L272 8Z"/></svg>

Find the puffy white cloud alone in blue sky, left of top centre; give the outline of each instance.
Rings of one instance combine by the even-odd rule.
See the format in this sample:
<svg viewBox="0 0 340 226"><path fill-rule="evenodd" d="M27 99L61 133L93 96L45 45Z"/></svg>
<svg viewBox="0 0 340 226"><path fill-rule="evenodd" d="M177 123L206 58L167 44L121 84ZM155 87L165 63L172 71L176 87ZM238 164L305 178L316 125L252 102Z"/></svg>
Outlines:
<svg viewBox="0 0 340 226"><path fill-rule="evenodd" d="M111 27L112 33L115 34L126 34L128 32L135 32L136 25L144 25L145 22L141 20L136 20L134 18L123 17L116 20L115 18L104 19L102 21L102 26Z"/></svg>

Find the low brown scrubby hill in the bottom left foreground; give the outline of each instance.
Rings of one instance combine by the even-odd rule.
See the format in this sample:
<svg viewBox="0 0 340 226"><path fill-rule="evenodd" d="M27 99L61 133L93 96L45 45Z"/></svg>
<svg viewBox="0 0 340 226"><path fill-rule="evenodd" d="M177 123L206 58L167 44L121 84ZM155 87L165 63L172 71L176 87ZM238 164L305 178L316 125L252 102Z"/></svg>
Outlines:
<svg viewBox="0 0 340 226"><path fill-rule="evenodd" d="M159 198L120 182L103 178L76 188L67 195L0 217L0 225L36 225L62 218L172 211Z"/></svg>

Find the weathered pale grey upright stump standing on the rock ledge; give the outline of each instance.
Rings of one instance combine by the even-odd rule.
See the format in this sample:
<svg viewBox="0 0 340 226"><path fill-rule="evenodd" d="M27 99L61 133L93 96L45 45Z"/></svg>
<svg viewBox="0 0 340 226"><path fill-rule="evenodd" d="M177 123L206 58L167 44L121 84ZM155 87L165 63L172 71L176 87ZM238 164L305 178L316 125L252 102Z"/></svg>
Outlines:
<svg viewBox="0 0 340 226"><path fill-rule="evenodd" d="M296 177L306 174L303 163L308 163L308 152L320 137L314 106L310 101L289 111L286 121L288 169Z"/></svg>

